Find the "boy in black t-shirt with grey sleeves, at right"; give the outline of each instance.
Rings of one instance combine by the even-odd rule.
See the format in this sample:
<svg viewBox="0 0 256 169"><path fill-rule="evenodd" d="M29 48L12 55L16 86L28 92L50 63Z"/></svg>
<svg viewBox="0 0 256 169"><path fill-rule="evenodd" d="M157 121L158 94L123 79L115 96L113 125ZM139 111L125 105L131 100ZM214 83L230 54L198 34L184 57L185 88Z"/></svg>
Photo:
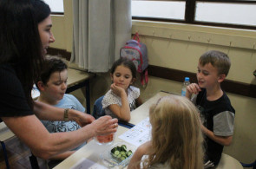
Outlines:
<svg viewBox="0 0 256 169"><path fill-rule="evenodd" d="M226 93L220 88L230 65L225 53L208 51L199 59L198 83L187 86L186 97L200 111L201 130L206 139L205 168L219 164L223 146L229 146L233 139L235 110Z"/></svg>

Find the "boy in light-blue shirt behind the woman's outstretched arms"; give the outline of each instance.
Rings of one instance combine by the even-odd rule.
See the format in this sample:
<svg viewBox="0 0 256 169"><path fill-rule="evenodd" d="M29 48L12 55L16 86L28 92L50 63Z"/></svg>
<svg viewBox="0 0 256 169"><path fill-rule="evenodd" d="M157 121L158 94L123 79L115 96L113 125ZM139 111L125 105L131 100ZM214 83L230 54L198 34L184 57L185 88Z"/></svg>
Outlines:
<svg viewBox="0 0 256 169"><path fill-rule="evenodd" d="M40 91L37 101L47 103L54 107L62 107L66 110L75 109L85 112L85 108L72 94L65 94L68 85L68 66L60 58L51 56L47 57L44 63L40 80L36 82L36 87ZM69 132L81 128L75 121L49 121L42 120L44 127L49 133ZM84 143L83 145L85 145ZM82 145L82 146L83 146ZM73 151L67 151L56 155L52 159L66 159L82 146L76 147ZM54 161L51 161L53 163ZM60 162L60 161L58 161ZM50 163L50 164L51 164Z"/></svg>

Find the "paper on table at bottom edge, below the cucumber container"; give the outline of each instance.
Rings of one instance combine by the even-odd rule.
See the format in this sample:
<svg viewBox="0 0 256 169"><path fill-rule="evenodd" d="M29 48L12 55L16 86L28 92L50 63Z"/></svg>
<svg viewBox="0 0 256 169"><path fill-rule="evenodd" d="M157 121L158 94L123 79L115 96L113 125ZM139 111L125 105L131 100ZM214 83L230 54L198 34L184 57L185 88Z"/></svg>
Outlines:
<svg viewBox="0 0 256 169"><path fill-rule="evenodd" d="M99 165L89 159L82 158L70 169L107 169L107 167Z"/></svg>

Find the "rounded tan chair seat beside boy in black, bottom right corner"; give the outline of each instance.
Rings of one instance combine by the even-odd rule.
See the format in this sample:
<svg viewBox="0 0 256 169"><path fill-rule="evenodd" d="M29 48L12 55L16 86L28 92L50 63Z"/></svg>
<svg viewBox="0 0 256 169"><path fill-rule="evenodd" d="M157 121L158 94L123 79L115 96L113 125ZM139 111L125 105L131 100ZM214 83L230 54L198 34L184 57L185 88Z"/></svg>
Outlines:
<svg viewBox="0 0 256 169"><path fill-rule="evenodd" d="M243 166L237 159L227 155L226 153L221 154L219 165L216 169L243 169Z"/></svg>

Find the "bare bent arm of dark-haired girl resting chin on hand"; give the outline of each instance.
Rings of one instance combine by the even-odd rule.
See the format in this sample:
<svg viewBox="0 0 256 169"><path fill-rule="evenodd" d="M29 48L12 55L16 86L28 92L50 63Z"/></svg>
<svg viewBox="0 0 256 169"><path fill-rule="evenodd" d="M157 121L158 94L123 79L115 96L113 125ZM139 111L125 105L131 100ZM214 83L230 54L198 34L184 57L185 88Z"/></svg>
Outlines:
<svg viewBox="0 0 256 169"><path fill-rule="evenodd" d="M121 97L121 107L117 104L109 105L110 111L115 114L120 120L129 121L131 119L130 107L128 104L128 97L125 90L113 83L111 85L112 91Z"/></svg>

